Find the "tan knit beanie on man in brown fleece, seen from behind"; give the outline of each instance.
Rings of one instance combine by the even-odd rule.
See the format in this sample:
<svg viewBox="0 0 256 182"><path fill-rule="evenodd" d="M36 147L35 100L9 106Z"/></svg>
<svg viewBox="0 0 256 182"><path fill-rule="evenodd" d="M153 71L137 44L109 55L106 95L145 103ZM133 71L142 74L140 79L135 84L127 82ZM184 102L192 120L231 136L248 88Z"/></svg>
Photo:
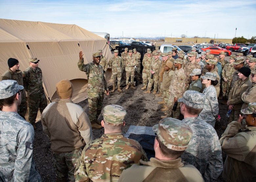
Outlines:
<svg viewBox="0 0 256 182"><path fill-rule="evenodd" d="M56 91L60 99L66 99L72 96L74 87L68 79L64 79L56 83Z"/></svg>

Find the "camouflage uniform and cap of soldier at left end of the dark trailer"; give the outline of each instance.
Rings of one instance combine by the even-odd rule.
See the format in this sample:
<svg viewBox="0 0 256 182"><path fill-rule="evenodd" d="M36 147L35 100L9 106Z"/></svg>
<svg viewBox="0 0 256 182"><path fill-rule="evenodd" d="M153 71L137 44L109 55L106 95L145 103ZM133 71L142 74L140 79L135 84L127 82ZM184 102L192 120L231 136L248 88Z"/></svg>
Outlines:
<svg viewBox="0 0 256 182"><path fill-rule="evenodd" d="M117 53L118 51L115 50ZM114 52L115 52L114 51ZM117 86L121 85L121 78L122 78L122 67L124 67L124 60L120 56L117 58L114 56L110 58L109 60L109 67L112 68L112 80L113 80L113 86L116 85L117 80Z"/></svg>

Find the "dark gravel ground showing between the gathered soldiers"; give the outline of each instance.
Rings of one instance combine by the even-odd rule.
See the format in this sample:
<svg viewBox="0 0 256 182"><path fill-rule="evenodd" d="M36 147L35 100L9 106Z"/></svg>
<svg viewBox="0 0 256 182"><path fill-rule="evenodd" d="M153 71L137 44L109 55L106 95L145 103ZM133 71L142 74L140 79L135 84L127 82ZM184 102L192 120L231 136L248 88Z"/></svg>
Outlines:
<svg viewBox="0 0 256 182"><path fill-rule="evenodd" d="M105 95L103 107L109 104L118 104L127 110L127 116L125 118L126 125L123 127L123 133L126 133L130 125L138 126L153 126L160 121L160 116L164 112L160 111L161 105L157 102L161 101L159 97L152 94L145 94L141 90L142 84L138 84L137 89L125 90L125 80L122 80L121 89L122 92L117 90L108 96ZM109 87L112 90L112 86ZM88 114L88 101L87 99L78 103ZM219 105L221 125L227 124L227 118L225 113L227 106ZM102 120L102 115L99 116L98 120ZM181 118L183 116L181 115ZM43 132L41 121L36 123L37 129L35 130L35 141L34 141L34 160L37 166L37 170L41 174L43 182L55 181L55 171L52 164L51 156L51 142L46 134ZM224 130L216 129L219 137ZM93 129L93 135L96 138L100 138L104 133L104 129ZM223 161L225 161L226 154L223 153ZM216 180L222 182L222 175Z"/></svg>

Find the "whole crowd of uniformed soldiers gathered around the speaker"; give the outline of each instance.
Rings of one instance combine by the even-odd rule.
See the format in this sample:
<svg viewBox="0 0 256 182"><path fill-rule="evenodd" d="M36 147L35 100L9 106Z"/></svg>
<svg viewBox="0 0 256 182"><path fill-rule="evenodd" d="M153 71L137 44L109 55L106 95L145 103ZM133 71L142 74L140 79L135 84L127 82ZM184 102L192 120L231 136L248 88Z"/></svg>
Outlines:
<svg viewBox="0 0 256 182"><path fill-rule="evenodd" d="M143 56L136 49L109 61L102 50L93 53L93 62L84 64L79 52L78 68L87 75L89 117L71 100L73 84L56 83L58 99L47 106L39 60L30 58L30 67L21 72L15 58L0 81L2 181L41 181L32 157L35 118L41 112L43 131L51 140L56 181L213 181L223 174L225 181L254 181L256 178L256 59L239 53L229 61L220 53L198 54L173 48L162 53L158 47ZM125 138L122 127L127 111L119 105L103 108L105 79L112 68L113 90L136 89L142 78L144 94L161 97L159 124L153 126L155 157L148 160L138 141ZM140 75L142 73L142 75ZM26 92L25 92L26 91ZM158 94L157 94L158 92ZM27 93L27 99L26 99ZM228 121L221 138L214 129L219 116L218 99L227 105ZM29 121L25 121L27 104ZM103 108L103 120L98 116ZM184 119L179 120L180 115ZM31 124L29 124L31 123ZM94 140L92 128L104 127ZM223 166L222 151L227 154Z"/></svg>

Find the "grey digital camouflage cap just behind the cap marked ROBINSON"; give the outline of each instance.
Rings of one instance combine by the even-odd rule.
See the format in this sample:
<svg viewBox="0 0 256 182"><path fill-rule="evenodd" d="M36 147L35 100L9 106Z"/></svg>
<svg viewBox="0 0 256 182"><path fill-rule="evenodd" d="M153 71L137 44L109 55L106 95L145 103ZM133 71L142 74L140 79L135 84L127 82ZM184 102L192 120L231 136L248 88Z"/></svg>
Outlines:
<svg viewBox="0 0 256 182"><path fill-rule="evenodd" d="M181 97L178 102L183 102L185 105L195 108L203 109L205 96L203 93L193 90L187 90L184 92L183 97Z"/></svg>

